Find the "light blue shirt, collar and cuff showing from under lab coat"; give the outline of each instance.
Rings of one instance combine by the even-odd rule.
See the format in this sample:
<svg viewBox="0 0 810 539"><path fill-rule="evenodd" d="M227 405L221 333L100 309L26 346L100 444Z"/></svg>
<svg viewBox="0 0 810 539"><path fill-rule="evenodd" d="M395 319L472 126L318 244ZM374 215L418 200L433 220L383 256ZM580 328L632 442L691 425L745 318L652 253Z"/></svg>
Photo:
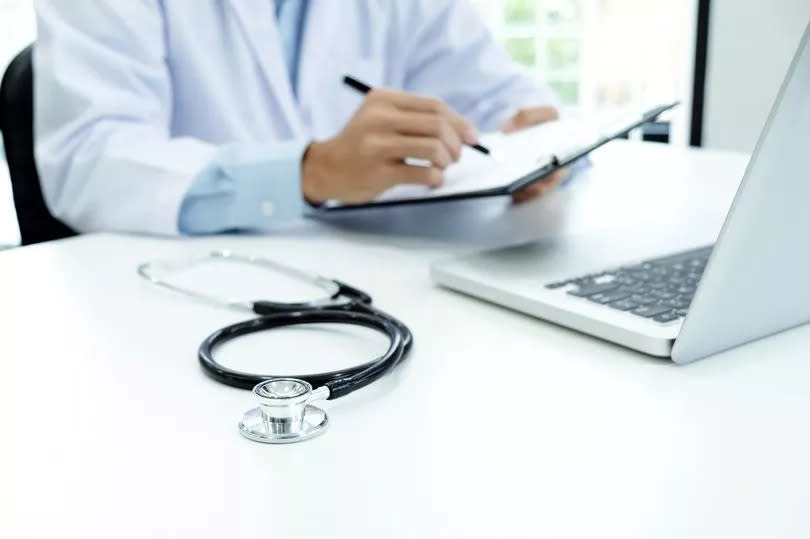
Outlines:
<svg viewBox="0 0 810 539"><path fill-rule="evenodd" d="M270 1L270 0L268 0ZM275 0L284 62L293 92L308 0ZM300 217L301 158L309 141L231 144L195 179L180 206L184 234L262 229Z"/></svg>

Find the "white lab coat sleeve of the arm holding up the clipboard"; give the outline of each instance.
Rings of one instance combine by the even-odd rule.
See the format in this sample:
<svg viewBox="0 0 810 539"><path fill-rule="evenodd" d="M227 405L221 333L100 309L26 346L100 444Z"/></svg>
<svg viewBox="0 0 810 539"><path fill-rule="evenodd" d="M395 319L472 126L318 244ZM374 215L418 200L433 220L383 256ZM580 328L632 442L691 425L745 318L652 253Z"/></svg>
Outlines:
<svg viewBox="0 0 810 539"><path fill-rule="evenodd" d="M522 107L559 99L495 42L467 0L402 0L396 46L407 51L405 87L443 98L482 131Z"/></svg>

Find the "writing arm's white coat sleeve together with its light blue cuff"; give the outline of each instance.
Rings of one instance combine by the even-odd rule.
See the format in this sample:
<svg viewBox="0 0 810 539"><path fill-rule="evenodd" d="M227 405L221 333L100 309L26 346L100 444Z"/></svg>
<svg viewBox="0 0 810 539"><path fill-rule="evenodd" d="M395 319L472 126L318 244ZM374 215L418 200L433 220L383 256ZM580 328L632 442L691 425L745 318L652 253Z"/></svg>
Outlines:
<svg viewBox="0 0 810 539"><path fill-rule="evenodd" d="M155 234L179 232L181 207L188 232L298 215L303 202L292 161L171 136L161 5L37 0L35 144L51 211L80 232ZM278 184L274 171L284 177ZM249 202L240 221L235 216Z"/></svg>

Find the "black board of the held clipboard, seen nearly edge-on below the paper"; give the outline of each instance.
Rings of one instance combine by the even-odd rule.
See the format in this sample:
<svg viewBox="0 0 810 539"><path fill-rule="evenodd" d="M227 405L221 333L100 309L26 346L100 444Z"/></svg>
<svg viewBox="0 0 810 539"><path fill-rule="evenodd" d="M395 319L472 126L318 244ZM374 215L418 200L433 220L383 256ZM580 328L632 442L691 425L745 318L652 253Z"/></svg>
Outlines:
<svg viewBox="0 0 810 539"><path fill-rule="evenodd" d="M631 131L634 129L638 129L639 127L648 124L650 122L654 122L661 116L663 113L674 109L680 105L680 101L676 101L674 103L670 103L668 105L660 105L658 107L652 108L642 114L641 118L631 124L622 127L615 133L610 135L603 135L599 139L597 139L593 144L587 145L583 148L580 148L576 151L573 151L567 155L560 155L560 156L553 156L551 162L539 167L529 174L513 180L505 185L492 187L489 189L479 189L475 191L464 191L461 193L452 193L447 195L439 195L433 197L418 197L418 198L398 198L393 200L381 200L379 202L366 202L362 204L324 204L314 208L315 213L335 213L335 212L342 212L342 211L349 211L349 210L360 210L366 208L385 208L389 206L404 206L404 205L412 205L412 204L432 204L437 202L452 202L456 200L467 200L472 198L484 198L484 197L495 197L495 196L509 196L529 185L542 180L543 178L553 174L555 171L567 167L568 165L574 163L582 159L583 157L588 156L591 152L598 150L608 142L614 141L616 139L626 137Z"/></svg>

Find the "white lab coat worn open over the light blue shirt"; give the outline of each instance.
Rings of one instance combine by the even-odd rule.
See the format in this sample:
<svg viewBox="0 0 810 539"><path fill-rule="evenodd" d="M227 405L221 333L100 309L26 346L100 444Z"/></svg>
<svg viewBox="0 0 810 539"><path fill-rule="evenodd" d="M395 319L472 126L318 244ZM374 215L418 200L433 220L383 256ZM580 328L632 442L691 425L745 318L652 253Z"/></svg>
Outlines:
<svg viewBox="0 0 810 539"><path fill-rule="evenodd" d="M465 0L310 0L298 97L272 0L37 0L36 158L79 231L176 234L218 148L334 136L344 74L445 99L482 129L554 103Z"/></svg>

